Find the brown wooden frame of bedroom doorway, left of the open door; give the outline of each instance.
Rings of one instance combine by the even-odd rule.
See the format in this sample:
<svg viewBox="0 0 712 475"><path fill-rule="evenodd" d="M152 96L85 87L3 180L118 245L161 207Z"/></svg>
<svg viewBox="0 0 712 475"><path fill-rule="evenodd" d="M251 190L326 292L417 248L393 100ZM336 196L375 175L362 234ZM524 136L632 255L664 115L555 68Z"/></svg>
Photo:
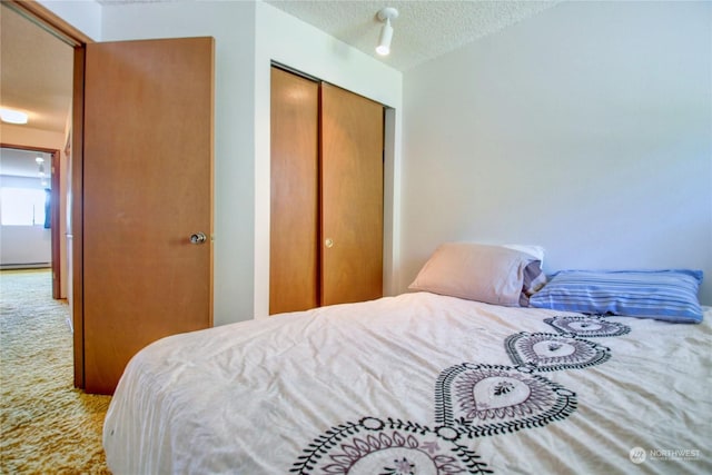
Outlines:
<svg viewBox="0 0 712 475"><path fill-rule="evenodd" d="M83 78L85 50L91 38L59 18L56 13L36 0L3 0L29 21L44 29L75 49L73 89L72 89L72 130L71 130L71 206L67 209L71 229L67 232L71 241L71 261L69 263L71 279L71 303L73 325L75 387L85 387L85 328L83 328L83 204L81 201L83 184Z"/></svg>

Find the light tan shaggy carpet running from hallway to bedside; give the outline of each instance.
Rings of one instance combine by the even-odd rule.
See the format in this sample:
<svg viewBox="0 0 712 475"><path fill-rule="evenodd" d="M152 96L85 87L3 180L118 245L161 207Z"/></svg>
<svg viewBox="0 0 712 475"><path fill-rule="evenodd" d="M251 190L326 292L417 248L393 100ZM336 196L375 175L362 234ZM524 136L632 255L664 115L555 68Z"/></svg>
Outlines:
<svg viewBox="0 0 712 475"><path fill-rule="evenodd" d="M69 306L49 270L0 271L0 473L108 474L109 396L73 388Z"/></svg>

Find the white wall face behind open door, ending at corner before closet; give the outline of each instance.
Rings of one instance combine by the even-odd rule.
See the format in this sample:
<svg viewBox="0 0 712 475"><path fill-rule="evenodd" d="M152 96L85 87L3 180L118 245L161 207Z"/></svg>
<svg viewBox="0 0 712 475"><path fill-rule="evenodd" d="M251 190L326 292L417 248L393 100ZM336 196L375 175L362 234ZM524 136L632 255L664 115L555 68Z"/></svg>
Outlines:
<svg viewBox="0 0 712 475"><path fill-rule="evenodd" d="M215 325L248 319L254 300L255 4L107 6L102 41L215 38Z"/></svg>

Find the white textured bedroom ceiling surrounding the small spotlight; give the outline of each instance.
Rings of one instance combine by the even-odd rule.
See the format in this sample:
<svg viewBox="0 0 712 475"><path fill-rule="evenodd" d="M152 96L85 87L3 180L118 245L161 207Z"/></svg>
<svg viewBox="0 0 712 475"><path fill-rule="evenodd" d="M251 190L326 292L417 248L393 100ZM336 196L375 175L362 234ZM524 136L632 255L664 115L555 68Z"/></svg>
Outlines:
<svg viewBox="0 0 712 475"><path fill-rule="evenodd" d="M414 66L494 33L558 3L556 1L312 1L265 0L366 55L405 71ZM376 55L384 7L398 10L390 55Z"/></svg>

